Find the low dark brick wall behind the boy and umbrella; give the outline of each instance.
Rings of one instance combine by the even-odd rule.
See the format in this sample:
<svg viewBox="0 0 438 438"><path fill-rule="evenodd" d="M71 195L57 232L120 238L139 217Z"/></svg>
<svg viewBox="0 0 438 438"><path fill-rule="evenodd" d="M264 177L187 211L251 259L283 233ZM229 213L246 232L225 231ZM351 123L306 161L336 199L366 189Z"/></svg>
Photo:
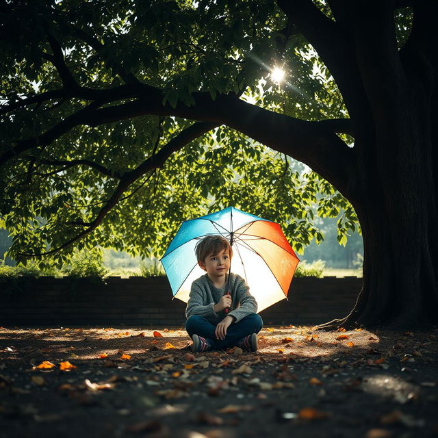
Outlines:
<svg viewBox="0 0 438 438"><path fill-rule="evenodd" d="M294 279L289 300L260 313L265 324L318 324L345 316L355 303L362 279ZM180 326L185 303L172 300L165 277L23 279L0 285L0 326Z"/></svg>

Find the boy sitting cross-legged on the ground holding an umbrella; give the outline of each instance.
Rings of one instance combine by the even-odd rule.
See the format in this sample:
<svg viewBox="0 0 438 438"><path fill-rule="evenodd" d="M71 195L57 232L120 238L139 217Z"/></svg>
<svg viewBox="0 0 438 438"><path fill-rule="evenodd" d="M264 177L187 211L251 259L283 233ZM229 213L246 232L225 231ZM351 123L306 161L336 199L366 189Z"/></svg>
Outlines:
<svg viewBox="0 0 438 438"><path fill-rule="evenodd" d="M228 277L233 250L220 235L207 235L196 244L198 264L207 273L192 283L185 316L185 329L192 338L192 351L222 350L239 346L257 351L257 334L263 322L257 302L244 279ZM225 309L229 309L228 312Z"/></svg>

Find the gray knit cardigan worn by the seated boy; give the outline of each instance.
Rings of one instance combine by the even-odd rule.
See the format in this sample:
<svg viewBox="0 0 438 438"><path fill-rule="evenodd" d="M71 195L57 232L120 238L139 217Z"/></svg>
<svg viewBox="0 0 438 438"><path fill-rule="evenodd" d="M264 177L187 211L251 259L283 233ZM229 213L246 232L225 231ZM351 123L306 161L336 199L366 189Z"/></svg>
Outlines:
<svg viewBox="0 0 438 438"><path fill-rule="evenodd" d="M185 309L185 317L190 318L192 315L204 316L212 324L218 324L227 315L232 315L235 322L239 322L251 313L257 313L257 301L249 293L249 287L241 276L233 273L230 277L231 308L227 314L223 310L215 313L213 307L219 302L227 287L228 276L224 285L219 289L211 283L207 274L200 276L192 283L190 297Z"/></svg>

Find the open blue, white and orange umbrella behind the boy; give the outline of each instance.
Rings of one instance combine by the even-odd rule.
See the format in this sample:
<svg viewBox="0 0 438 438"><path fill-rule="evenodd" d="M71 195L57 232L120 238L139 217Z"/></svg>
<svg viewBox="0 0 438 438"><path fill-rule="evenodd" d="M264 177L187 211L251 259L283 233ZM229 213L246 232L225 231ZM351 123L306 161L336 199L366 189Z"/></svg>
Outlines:
<svg viewBox="0 0 438 438"><path fill-rule="evenodd" d="M233 246L231 271L245 279L262 311L287 298L298 257L279 224L234 207L185 220L161 259L174 298L188 302L192 282L205 271L195 246L205 235L222 235Z"/></svg>

